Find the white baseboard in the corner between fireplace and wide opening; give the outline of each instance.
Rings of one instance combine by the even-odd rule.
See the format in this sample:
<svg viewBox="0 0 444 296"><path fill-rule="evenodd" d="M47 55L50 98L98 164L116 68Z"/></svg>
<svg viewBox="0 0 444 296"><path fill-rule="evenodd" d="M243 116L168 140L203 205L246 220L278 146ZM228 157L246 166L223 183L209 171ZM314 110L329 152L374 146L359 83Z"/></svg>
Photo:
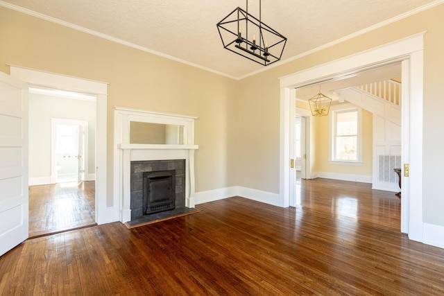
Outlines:
<svg viewBox="0 0 444 296"><path fill-rule="evenodd" d="M194 204L203 204L204 202L214 202L215 200L223 200L224 198L231 198L233 196L241 196L249 200L256 200L257 202L264 202L279 206L279 194L267 191L260 191L257 189L250 189L242 186L232 186L227 188L201 191L194 193Z"/></svg>

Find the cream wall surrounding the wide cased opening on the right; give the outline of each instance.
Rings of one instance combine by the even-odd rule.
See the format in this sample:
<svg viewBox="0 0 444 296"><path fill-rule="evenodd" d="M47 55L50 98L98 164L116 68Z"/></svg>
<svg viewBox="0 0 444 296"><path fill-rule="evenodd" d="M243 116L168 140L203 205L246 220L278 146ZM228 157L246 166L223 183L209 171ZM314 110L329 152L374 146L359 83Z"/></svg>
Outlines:
<svg viewBox="0 0 444 296"><path fill-rule="evenodd" d="M442 215L444 199L441 198L442 189L439 185L442 175L439 170L444 166L444 157L441 152L444 145L444 133L436 132L436 127L444 123L440 111L444 110L444 100L440 95L444 78L442 71L444 69L443 15L444 5L441 4L243 79L239 84L239 100L234 102L238 107L237 125L241 127L237 134L237 155L230 163L230 167L237 167L238 185L273 193L279 192L280 87L278 78L427 31L424 39L424 112L427 116L424 116L423 217L425 223L444 226ZM249 112L249 107L258 102L264 103L265 107L261 109L259 116L255 116L256 114ZM298 106L298 101L296 106ZM314 122L312 128L317 127L318 123ZM262 141L262 139L267 140ZM319 139L312 139L311 144L316 147L321 146L318 141ZM260 143L259 147L252 150L258 143ZM261 162L257 162L257 159L261 159ZM314 162L315 159L311 161ZM265 176L268 176L266 180L264 180Z"/></svg>

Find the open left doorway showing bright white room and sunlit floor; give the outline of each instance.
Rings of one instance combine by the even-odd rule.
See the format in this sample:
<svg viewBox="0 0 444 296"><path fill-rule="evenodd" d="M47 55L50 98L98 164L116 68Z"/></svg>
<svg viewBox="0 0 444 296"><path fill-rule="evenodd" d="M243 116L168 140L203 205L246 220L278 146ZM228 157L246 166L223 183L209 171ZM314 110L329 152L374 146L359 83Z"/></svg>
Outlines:
<svg viewBox="0 0 444 296"><path fill-rule="evenodd" d="M29 236L95 225L96 97L29 93Z"/></svg>

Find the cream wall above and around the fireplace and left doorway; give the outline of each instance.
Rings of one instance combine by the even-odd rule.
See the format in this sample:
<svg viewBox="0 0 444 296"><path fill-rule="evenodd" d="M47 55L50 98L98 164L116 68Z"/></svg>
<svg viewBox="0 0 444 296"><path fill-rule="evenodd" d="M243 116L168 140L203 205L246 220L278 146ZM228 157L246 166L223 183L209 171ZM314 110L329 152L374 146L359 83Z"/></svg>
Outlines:
<svg viewBox="0 0 444 296"><path fill-rule="evenodd" d="M7 64L108 82L108 206L113 107L199 116L196 191L228 186L228 106L236 81L0 7L0 71Z"/></svg>

